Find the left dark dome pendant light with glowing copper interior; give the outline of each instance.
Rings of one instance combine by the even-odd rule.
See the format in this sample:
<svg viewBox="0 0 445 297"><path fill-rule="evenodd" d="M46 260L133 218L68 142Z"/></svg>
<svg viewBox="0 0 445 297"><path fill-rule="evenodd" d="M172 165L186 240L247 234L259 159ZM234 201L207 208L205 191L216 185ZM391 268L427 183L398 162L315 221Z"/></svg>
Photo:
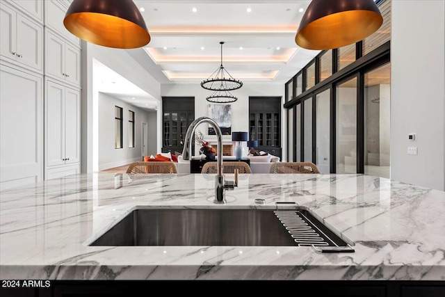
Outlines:
<svg viewBox="0 0 445 297"><path fill-rule="evenodd" d="M133 49L151 39L131 0L74 0L63 24L77 37L104 47Z"/></svg>

